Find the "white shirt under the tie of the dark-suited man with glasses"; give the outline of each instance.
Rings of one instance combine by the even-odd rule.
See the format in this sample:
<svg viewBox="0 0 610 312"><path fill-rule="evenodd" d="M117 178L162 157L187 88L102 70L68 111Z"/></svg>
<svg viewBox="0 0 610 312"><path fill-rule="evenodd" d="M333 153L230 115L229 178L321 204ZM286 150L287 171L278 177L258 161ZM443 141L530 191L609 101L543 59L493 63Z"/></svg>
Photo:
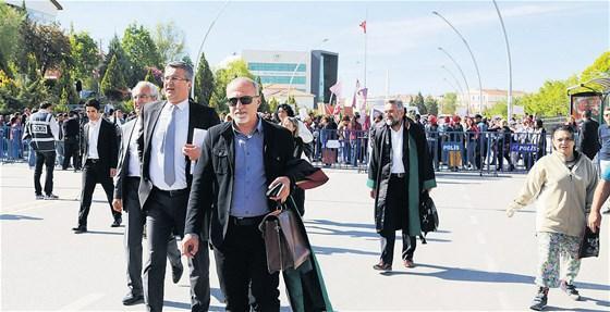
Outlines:
<svg viewBox="0 0 610 312"><path fill-rule="evenodd" d="M150 146L150 180L152 185L162 190L178 190L187 187L186 184L186 161L184 160L184 154L182 153L182 148L186 143L186 137L188 135L188 100L184 100L178 103L178 111L175 112L175 149L174 149L174 160L175 160L175 182L172 186L166 184L164 171L163 171L163 140L166 136L166 129L168 128L168 122L171 116L171 103L166 102L161 109L159 120L155 126L152 133L151 146Z"/></svg>

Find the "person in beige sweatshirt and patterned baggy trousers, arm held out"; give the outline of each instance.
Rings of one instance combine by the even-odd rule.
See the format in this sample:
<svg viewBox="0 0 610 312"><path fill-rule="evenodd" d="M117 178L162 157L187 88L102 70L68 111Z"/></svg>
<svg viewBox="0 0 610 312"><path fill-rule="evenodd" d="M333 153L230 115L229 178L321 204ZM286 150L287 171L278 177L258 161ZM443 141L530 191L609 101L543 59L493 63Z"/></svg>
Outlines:
<svg viewBox="0 0 610 312"><path fill-rule="evenodd" d="M536 162L521 192L507 209L512 216L515 210L537 200L538 291L529 307L537 311L546 307L550 287L559 286L573 300L581 299L574 286L581 267L578 247L597 185L595 165L575 151L571 126L559 126L553 132L552 146L553 152Z"/></svg>

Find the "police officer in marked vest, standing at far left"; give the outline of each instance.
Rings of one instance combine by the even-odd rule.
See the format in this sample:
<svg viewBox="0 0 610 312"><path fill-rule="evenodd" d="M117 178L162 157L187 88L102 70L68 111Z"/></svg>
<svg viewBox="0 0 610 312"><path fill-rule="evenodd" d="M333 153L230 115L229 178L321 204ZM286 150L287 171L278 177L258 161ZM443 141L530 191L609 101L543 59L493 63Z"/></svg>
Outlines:
<svg viewBox="0 0 610 312"><path fill-rule="evenodd" d="M24 137L32 138L29 142L36 152L36 166L34 170L34 188L36 199L58 199L53 195L53 167L56 164L56 140L59 139L59 125L51 113L50 102L40 103L40 109L27 120ZM47 167L45 178L45 195L40 186L42 164Z"/></svg>

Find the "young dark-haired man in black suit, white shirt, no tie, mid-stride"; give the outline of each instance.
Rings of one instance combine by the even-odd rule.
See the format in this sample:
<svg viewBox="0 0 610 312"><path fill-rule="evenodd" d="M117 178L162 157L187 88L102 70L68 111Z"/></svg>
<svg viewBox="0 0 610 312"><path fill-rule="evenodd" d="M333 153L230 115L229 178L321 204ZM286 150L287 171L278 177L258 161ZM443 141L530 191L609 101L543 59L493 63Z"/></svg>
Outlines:
<svg viewBox="0 0 610 312"><path fill-rule="evenodd" d="M91 196L96 185L103 187L110 212L114 222L112 227L121 225L121 213L112 210L112 192L114 185L112 177L117 173L118 143L114 126L101 117L100 103L96 99L85 102L85 110L89 122L84 127L83 159L83 190L81 192L81 209L78 210L78 225L75 234L87 232L87 215L91 205Z"/></svg>

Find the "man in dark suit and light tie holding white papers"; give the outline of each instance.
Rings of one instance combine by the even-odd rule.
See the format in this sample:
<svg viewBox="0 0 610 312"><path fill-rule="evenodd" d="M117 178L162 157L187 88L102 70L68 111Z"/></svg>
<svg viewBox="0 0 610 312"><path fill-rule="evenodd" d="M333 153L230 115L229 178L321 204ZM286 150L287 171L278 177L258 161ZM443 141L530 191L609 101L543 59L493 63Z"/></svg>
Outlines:
<svg viewBox="0 0 610 312"><path fill-rule="evenodd" d="M138 196L146 213L149 259L144 269L144 298L148 311L163 308L163 279L168 237L183 235L186 203L193 179L191 162L199 158L202 133L220 122L218 114L188 101L193 68L184 62L166 66L163 89L167 101L143 107L137 147L142 159ZM209 308L209 257L203 248L188 261L191 309Z"/></svg>

